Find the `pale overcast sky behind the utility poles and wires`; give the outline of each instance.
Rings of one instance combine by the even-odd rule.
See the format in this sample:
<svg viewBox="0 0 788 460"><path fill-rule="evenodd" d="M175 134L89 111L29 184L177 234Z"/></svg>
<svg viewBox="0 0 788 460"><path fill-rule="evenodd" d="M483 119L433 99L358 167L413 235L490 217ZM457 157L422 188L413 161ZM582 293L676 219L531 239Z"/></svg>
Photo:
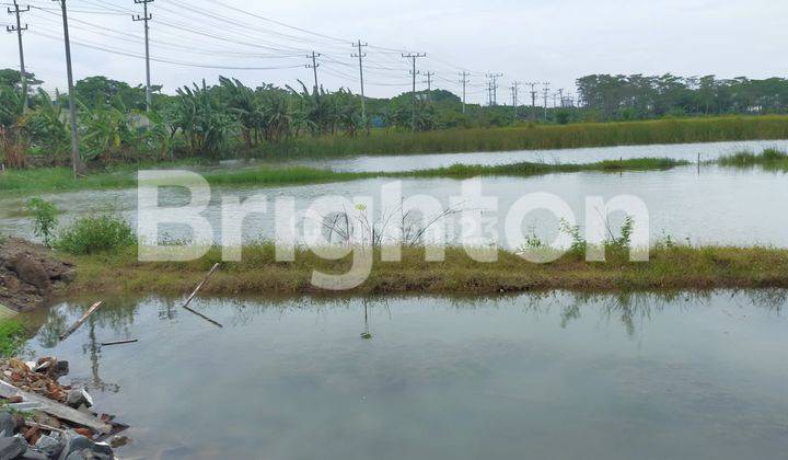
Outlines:
<svg viewBox="0 0 788 460"><path fill-rule="evenodd" d="M3 10L13 0L0 0ZM21 1L27 70L47 90L66 88L59 3ZM143 23L134 0L68 0L76 79L103 74L144 82ZM231 76L250 85L311 87L308 54L320 53L317 77L326 89L359 92L351 43L369 44L368 96L409 91L426 72L433 88L461 93L470 72L468 102L487 100L487 74L502 73L498 102L510 101L514 81L549 82L575 92L592 73L719 78L784 77L788 68L788 2L780 0L155 0L149 4L152 81L164 92ZM14 16L1 14L0 25ZM786 60L786 62L783 62ZM19 69L15 34L0 36L0 68ZM541 90L542 87L537 87ZM530 91L530 88L521 90Z"/></svg>

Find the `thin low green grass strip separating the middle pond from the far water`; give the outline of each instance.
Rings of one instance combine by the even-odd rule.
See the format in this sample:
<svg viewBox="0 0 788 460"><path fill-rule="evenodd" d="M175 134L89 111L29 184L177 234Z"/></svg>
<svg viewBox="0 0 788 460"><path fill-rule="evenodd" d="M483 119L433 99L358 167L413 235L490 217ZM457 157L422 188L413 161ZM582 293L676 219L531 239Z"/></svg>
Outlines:
<svg viewBox="0 0 788 460"><path fill-rule="evenodd" d="M464 179L479 175L531 176L560 172L600 171L651 171L667 170L688 164L671 159L642 158L623 161L600 161L586 164L551 164L521 162L497 166L461 165L407 172L337 172L308 166L257 168L211 171L202 176L211 185L298 185L331 182L347 182L372 177L453 177ZM114 173L97 173L79 181L71 177L66 169L8 171L0 175L0 192L18 195L35 192L60 192L77 189L128 188L137 186L135 172L124 169Z"/></svg>

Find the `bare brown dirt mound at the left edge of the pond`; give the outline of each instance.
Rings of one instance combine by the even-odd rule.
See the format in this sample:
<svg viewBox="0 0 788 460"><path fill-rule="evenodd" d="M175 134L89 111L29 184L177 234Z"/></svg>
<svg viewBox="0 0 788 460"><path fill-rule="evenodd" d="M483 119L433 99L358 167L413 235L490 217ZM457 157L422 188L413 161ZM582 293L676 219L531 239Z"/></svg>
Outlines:
<svg viewBox="0 0 788 460"><path fill-rule="evenodd" d="M28 241L0 242L0 304L15 311L40 307L76 276L73 265Z"/></svg>

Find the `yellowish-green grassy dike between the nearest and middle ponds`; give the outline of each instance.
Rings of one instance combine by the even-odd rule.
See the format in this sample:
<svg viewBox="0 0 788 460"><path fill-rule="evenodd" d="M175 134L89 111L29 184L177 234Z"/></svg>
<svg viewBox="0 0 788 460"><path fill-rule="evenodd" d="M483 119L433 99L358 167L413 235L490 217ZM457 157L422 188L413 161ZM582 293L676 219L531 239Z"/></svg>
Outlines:
<svg viewBox="0 0 788 460"><path fill-rule="evenodd" d="M294 262L276 262L270 243L245 246L240 263L223 263L206 286L209 295L325 294L310 283L313 269L347 273L349 257L325 261L299 250ZM768 248L691 248L661 245L651 261L633 263L624 250L609 251L609 262L589 263L569 253L537 265L499 251L498 262L479 263L460 248L447 249L444 262L425 262L424 248L404 248L403 261L374 264L354 294L497 294L572 289L622 291L644 289L788 288L788 250ZM136 292L183 295L194 289L221 250L187 263L141 263L136 249L74 258L79 275L72 294Z"/></svg>

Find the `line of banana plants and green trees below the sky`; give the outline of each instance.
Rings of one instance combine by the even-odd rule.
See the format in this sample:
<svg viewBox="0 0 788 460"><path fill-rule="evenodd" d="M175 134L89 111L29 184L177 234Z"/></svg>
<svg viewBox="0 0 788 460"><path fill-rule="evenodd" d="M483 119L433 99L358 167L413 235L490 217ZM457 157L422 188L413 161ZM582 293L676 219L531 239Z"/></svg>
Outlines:
<svg viewBox="0 0 788 460"><path fill-rule="evenodd" d="M0 162L24 166L36 158L67 164L70 152L68 97L40 89L27 74L0 70ZM717 80L642 76L589 76L577 81L580 106L482 106L445 90L422 91L414 99L361 99L347 89L252 88L221 77L175 94L155 87L146 112L142 85L96 76L76 83L80 150L88 164L182 157L219 158L239 151L264 152L266 146L293 139L368 136L381 130L410 133L449 128L485 128L535 123L647 119L664 116L785 113L784 79ZM27 97L24 97L26 91ZM572 104L573 105L573 104ZM415 117L414 117L415 112Z"/></svg>

